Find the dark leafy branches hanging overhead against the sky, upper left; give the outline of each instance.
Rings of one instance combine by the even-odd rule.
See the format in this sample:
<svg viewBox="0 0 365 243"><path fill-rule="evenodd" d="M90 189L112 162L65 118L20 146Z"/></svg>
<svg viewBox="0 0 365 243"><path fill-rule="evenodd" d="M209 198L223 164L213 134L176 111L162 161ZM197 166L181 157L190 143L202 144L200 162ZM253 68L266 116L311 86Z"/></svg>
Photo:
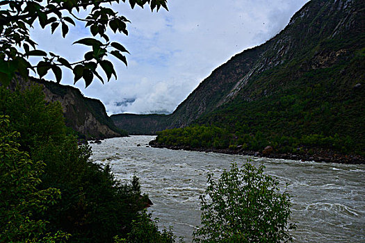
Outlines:
<svg viewBox="0 0 365 243"><path fill-rule="evenodd" d="M125 3L126 0L122 0ZM161 7L168 10L167 0L128 0L130 7L143 8L146 4L151 10ZM106 4L109 3L109 4ZM108 81L111 76L117 78L113 63L106 60L107 56L115 56L127 65L125 53L129 53L122 44L111 42L106 34L107 29L114 33L128 35L129 20L115 12L111 6L119 4L120 0L12 0L0 1L0 82L8 85L15 73L24 77L29 76L29 69L37 73L40 78L49 71L54 73L56 81L62 79L63 71L60 67L71 69L74 83L84 79L86 87L92 83L95 76L102 83L104 80L97 72L101 67ZM80 10L88 13L87 17L80 17ZM90 37L77 40L74 44L90 47L90 51L83 55L83 59L70 63L66 58L56 53L42 51L37 48L29 29L39 22L42 28L51 27L51 33L60 29L65 38L70 27L84 23L90 30ZM38 64L32 66L29 57L40 58Z"/></svg>

